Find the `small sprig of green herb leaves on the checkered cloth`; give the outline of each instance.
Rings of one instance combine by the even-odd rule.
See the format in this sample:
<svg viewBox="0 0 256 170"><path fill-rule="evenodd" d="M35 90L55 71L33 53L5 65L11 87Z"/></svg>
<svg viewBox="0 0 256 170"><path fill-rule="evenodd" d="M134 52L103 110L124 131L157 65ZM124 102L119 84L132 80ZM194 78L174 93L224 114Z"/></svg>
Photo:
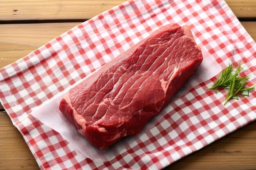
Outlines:
<svg viewBox="0 0 256 170"><path fill-rule="evenodd" d="M237 66L237 65L236 65ZM238 77L240 75L240 71L243 70L241 64L232 68L231 64L227 66L218 77L217 81L211 86L211 88L207 88L207 90L216 89L216 93L218 93L219 88L227 88L229 89L224 105L229 101L229 99L237 99L239 97L249 96L249 90L252 90L256 87L256 84L252 87L245 87L247 84L247 80L249 79L249 75L245 77ZM232 74L234 73L234 74ZM245 93L247 92L247 93Z"/></svg>

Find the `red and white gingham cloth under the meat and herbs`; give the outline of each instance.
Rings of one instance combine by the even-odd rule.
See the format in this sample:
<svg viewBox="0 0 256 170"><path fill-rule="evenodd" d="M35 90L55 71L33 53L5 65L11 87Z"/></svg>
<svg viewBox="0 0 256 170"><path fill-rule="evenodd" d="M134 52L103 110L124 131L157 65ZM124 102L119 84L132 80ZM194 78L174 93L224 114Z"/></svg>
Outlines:
<svg viewBox="0 0 256 170"><path fill-rule="evenodd" d="M191 26L196 42L220 66L240 60L247 63L252 74L249 86L255 84L256 44L225 1L125 2L0 70L0 101L40 169L161 169L256 119L255 91L223 106L224 93L205 90L213 77L166 107L153 128L114 159L101 163L86 158L29 114L155 29L173 22Z"/></svg>

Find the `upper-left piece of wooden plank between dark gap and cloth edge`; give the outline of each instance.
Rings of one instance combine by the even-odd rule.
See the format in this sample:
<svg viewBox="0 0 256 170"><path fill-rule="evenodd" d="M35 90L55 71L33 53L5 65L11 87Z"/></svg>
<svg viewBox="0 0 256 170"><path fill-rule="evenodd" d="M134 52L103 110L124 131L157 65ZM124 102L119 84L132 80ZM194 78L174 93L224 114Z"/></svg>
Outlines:
<svg viewBox="0 0 256 170"><path fill-rule="evenodd" d="M15 62L78 25L70 23L0 24L0 68Z"/></svg>

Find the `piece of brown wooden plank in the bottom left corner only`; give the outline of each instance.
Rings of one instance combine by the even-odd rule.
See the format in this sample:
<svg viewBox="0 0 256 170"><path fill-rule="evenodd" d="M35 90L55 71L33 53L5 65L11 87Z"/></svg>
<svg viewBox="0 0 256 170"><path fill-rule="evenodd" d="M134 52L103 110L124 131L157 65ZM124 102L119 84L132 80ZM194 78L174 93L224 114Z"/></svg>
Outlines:
<svg viewBox="0 0 256 170"><path fill-rule="evenodd" d="M0 112L0 144L0 170L40 170L6 112Z"/></svg>

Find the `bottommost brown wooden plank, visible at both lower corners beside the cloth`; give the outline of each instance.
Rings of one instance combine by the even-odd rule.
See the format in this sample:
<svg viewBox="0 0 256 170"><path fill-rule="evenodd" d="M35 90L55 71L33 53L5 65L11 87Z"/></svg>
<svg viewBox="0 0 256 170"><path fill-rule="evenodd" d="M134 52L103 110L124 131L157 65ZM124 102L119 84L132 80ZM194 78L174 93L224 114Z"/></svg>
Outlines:
<svg viewBox="0 0 256 170"><path fill-rule="evenodd" d="M0 170L39 170L27 144L6 112L0 112L0 144ZM249 170L256 167L255 160L256 121L164 170Z"/></svg>

